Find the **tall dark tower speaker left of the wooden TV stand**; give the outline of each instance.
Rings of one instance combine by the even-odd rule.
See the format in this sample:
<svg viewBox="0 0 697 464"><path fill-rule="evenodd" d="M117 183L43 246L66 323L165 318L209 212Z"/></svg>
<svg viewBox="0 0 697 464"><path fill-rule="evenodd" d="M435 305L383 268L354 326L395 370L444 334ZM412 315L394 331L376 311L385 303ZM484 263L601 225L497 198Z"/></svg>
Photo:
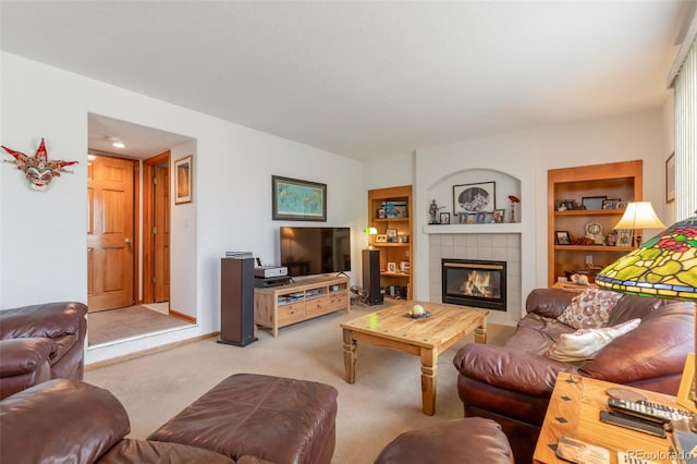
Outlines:
<svg viewBox="0 0 697 464"><path fill-rule="evenodd" d="M246 346L254 337L254 259L220 260L220 340Z"/></svg>

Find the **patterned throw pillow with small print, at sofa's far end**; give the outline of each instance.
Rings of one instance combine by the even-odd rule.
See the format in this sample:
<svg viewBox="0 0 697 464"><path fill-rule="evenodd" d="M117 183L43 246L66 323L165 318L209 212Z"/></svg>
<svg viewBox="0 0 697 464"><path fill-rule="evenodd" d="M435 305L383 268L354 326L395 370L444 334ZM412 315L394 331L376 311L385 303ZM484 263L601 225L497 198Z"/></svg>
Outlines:
<svg viewBox="0 0 697 464"><path fill-rule="evenodd" d="M557 319L574 329L599 329L606 325L621 297L622 293L610 290L584 290Z"/></svg>

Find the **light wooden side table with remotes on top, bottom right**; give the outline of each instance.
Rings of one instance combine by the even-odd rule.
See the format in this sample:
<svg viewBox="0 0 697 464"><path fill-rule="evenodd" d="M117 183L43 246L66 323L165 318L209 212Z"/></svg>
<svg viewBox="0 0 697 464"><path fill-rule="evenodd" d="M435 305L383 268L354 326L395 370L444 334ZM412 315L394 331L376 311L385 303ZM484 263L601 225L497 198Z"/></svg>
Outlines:
<svg viewBox="0 0 697 464"><path fill-rule="evenodd" d="M611 464L617 463L617 451L634 452L637 457L657 463L672 463L670 435L659 438L600 422L600 411L608 410L609 388L632 390L648 401L682 407L675 396L561 373L537 440L535 463L566 463L557 457L557 443L562 436L609 450Z"/></svg>

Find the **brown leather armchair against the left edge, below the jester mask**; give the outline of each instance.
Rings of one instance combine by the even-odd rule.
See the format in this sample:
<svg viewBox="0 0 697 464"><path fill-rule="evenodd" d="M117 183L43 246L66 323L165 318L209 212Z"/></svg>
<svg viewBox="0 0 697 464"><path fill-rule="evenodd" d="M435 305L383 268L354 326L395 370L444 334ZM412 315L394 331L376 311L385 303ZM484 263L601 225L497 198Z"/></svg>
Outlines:
<svg viewBox="0 0 697 464"><path fill-rule="evenodd" d="M0 399L49 379L82 379L86 314L75 302L0 310Z"/></svg>

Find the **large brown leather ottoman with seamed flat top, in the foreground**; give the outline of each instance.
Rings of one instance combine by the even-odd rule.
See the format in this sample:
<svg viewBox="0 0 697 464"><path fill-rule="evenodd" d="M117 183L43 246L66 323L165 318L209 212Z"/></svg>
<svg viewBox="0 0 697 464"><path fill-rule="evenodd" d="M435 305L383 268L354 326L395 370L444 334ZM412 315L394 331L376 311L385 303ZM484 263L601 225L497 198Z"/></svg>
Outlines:
<svg viewBox="0 0 697 464"><path fill-rule="evenodd" d="M236 374L148 440L205 448L233 460L328 464L334 452L337 389L306 380Z"/></svg>

